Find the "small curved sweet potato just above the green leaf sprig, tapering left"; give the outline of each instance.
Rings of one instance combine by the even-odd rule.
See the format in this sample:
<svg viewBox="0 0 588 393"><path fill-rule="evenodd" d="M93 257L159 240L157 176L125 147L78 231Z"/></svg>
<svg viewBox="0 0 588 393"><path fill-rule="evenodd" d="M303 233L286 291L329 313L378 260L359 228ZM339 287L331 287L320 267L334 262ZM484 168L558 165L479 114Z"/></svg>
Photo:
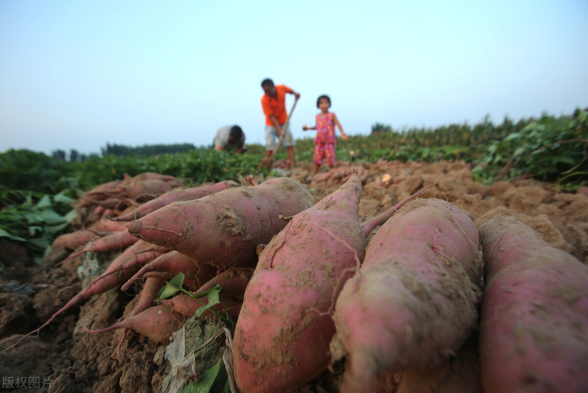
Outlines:
<svg viewBox="0 0 588 393"><path fill-rule="evenodd" d="M172 277L182 272L187 279L197 280L204 284L209 279L215 277L216 271L217 269L211 265L199 264L194 259L188 257L188 255L183 255L178 251L170 251L143 266L129 281L125 282L121 289L126 291L136 279L143 277L148 272L171 273Z"/></svg>

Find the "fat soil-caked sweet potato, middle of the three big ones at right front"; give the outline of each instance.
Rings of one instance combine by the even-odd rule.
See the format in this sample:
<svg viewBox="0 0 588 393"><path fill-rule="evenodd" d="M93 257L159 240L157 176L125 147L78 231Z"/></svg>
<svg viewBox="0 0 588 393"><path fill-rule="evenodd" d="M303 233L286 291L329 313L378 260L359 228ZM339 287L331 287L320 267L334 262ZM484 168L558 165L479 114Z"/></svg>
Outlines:
<svg viewBox="0 0 588 393"><path fill-rule="evenodd" d="M370 241L333 319L333 361L348 355L348 391L382 373L436 367L477 324L482 263L475 224L440 199L417 199Z"/></svg>

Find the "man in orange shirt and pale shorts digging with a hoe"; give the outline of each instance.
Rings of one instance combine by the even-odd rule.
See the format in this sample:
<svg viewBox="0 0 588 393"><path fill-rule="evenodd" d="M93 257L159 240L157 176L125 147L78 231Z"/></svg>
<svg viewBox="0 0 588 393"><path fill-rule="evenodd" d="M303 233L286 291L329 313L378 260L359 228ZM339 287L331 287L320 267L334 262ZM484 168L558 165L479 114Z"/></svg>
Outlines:
<svg viewBox="0 0 588 393"><path fill-rule="evenodd" d="M273 149L276 148L276 138L279 138L284 132L282 138L282 145L286 146L288 151L288 159L290 160L290 167L294 167L294 139L290 132L290 126L283 129L283 125L288 118L286 112L286 93L293 94L296 99L300 98L300 94L293 91L286 85L274 85L272 79L264 79L261 82L261 87L265 94L261 98L261 106L263 114L265 114L265 155L269 157L272 155Z"/></svg>

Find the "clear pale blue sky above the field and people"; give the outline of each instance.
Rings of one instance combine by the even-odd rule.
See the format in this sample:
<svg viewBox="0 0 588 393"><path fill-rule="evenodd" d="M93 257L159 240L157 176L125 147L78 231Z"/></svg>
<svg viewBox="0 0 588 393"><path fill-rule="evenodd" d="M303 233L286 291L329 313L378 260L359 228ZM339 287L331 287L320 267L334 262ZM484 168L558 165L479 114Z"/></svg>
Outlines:
<svg viewBox="0 0 588 393"><path fill-rule="evenodd" d="M263 144L260 82L348 135L588 106L588 1L0 0L0 152ZM293 104L288 96L286 106Z"/></svg>

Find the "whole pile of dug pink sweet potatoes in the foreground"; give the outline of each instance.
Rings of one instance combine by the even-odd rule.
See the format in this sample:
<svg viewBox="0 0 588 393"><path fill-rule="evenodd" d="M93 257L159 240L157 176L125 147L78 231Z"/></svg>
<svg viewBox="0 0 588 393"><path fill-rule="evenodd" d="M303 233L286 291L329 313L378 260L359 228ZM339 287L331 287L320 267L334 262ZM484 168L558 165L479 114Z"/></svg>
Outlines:
<svg viewBox="0 0 588 393"><path fill-rule="evenodd" d="M242 393L291 391L334 368L340 392L588 391L588 268L515 218L478 229L413 195L362 223L358 173L316 204L290 178L190 189L157 176L79 200L91 225L54 246L123 252L46 324L140 286L133 317L86 331L166 343L202 305L185 292L154 302L182 273L194 295L222 287L213 309L236 321L229 369Z"/></svg>

